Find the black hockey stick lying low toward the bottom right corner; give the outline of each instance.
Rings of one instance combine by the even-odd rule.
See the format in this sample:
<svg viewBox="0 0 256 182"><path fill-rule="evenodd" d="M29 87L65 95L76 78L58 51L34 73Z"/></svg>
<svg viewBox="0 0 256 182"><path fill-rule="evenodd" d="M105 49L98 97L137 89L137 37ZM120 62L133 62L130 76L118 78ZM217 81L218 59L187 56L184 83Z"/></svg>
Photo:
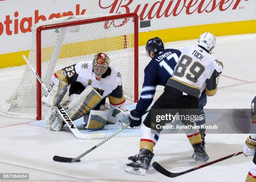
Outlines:
<svg viewBox="0 0 256 182"><path fill-rule="evenodd" d="M165 176L167 176L167 177L177 177L177 176L187 174L187 173L189 173L189 172L192 172L192 171L201 169L201 168L203 168L203 167L206 167L206 166L215 164L215 163L217 163L217 162L220 162L220 161L229 159L229 158L231 158L231 157L234 157L234 156L237 156L237 155L240 155L240 154L243 154L243 152L242 152L242 151L241 151L241 152L236 152L236 153L234 153L234 154L231 154L231 155L222 157L222 158L217 159L217 160L214 160L214 161L212 161L212 162L208 162L208 163L206 163L206 164L203 164L203 165L194 167L194 168L192 168L192 169L189 169L189 170L186 170L186 171L183 171L183 172L177 172L177 173L167 171L166 169L164 169L164 167L162 167L161 165L159 165L159 163L157 163L157 162L153 162L152 166L154 167L155 170L157 170L158 172L160 172L162 175L165 175Z"/></svg>

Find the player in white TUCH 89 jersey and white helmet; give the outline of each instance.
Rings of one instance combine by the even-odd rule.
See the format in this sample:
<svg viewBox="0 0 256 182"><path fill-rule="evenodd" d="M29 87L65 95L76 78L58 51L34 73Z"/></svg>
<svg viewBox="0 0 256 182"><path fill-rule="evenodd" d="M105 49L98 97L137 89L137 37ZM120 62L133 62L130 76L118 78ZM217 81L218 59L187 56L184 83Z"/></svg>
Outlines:
<svg viewBox="0 0 256 182"><path fill-rule="evenodd" d="M204 90L208 96L215 95L218 89L219 76L223 70L222 62L211 55L215 47L215 42L215 36L209 32L205 32L200 36L197 46L184 47L179 61L174 68L173 76L167 81L163 94L151 107L151 111L152 109L173 109L173 113L170 113L172 115L175 115L177 112L182 115L193 114L184 113L184 110L182 112L180 109L197 109L198 98ZM143 123L149 122L151 123L151 129L161 132L161 130L156 128L156 125L159 123L151 120L151 111L148 112ZM140 118L139 120L134 118L130 122L133 126L141 125ZM194 125L194 123L189 122L189 125ZM188 132L191 131L188 130ZM194 148L194 154L192 156L194 160L207 161L209 157L202 147L202 139L199 131L195 130L193 133L190 133L191 135L189 133L186 134ZM158 140L156 134L151 134L151 140ZM129 157L131 163L128 166L137 167L138 171L141 169L148 170L149 164L154 156L152 153L154 143L144 142L144 148L148 152Z"/></svg>

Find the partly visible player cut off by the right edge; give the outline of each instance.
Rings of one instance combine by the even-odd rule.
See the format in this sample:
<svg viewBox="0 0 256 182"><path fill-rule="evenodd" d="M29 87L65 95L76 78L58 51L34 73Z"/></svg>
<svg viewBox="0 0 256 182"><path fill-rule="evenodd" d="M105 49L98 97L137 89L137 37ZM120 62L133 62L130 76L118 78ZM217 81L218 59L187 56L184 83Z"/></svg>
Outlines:
<svg viewBox="0 0 256 182"><path fill-rule="evenodd" d="M247 156L253 156L253 162L251 164L250 170L246 177L246 182L256 182L256 96L251 102L251 117L252 117L252 127L251 134L245 144L243 145L243 154Z"/></svg>

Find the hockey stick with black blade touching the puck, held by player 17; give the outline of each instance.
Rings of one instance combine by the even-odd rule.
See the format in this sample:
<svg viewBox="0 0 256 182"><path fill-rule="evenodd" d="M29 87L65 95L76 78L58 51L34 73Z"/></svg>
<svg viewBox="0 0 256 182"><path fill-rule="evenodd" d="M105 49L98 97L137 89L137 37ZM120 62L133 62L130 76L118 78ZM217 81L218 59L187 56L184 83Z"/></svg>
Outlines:
<svg viewBox="0 0 256 182"><path fill-rule="evenodd" d="M144 112L143 115L145 115L148 111ZM120 133L121 131L123 131L125 128L127 128L130 125L130 123L128 123L127 125L125 125L124 127L120 128L119 130L117 130L116 132L114 132L112 135L110 135L109 137L105 138L104 140L102 140L100 143L98 143L97 145L95 145L94 147L90 148L89 150L87 150L86 152L82 153L81 155L79 155L76 158L71 158L71 157L61 157L58 155L54 155L53 160L57 161L57 162L80 162L80 158L84 157L84 155L87 155L89 152L91 152L92 150L95 150L97 147L99 147L100 145L102 145L103 143L107 142L110 138L114 137L115 135L117 135L118 133Z"/></svg>

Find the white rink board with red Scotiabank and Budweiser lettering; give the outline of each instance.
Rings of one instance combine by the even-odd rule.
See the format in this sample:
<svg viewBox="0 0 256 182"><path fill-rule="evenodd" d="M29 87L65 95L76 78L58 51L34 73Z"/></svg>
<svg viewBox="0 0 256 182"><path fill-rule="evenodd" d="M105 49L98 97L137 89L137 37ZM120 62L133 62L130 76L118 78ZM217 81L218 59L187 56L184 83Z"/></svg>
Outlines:
<svg viewBox="0 0 256 182"><path fill-rule="evenodd" d="M2 0L0 54L29 50L31 25L59 15L136 12L139 32L255 19L255 0Z"/></svg>

